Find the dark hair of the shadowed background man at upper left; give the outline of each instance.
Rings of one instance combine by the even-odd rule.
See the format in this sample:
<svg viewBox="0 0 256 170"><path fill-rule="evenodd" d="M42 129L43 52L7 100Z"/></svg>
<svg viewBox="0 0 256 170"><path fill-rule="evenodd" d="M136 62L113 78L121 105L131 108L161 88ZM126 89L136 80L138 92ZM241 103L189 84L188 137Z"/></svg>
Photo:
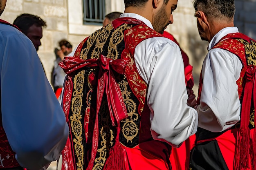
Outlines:
<svg viewBox="0 0 256 170"><path fill-rule="evenodd" d="M34 24L36 26L41 26L41 27L47 26L46 22L42 18L29 13L23 13L13 21L13 25L18 26L20 31L22 31L22 33L24 33L25 35L27 34L27 31L29 30L30 26Z"/></svg>

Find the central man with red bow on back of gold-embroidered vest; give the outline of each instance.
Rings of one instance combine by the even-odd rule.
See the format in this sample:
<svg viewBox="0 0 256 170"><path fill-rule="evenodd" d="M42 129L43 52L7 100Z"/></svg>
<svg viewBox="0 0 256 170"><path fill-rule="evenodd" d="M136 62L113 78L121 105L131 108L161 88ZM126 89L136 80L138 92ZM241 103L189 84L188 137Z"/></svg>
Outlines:
<svg viewBox="0 0 256 170"><path fill-rule="evenodd" d="M170 170L171 146L196 132L180 48L162 35L177 0L124 3L120 18L60 63L70 126L65 170Z"/></svg>

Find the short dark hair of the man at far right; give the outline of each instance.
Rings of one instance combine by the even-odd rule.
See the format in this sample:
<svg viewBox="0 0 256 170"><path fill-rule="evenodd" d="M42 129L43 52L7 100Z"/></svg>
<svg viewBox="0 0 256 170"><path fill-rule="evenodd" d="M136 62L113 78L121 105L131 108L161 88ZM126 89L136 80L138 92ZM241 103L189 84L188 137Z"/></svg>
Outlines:
<svg viewBox="0 0 256 170"><path fill-rule="evenodd" d="M234 0L195 0L195 11L203 11L209 18L234 18L236 8Z"/></svg>

